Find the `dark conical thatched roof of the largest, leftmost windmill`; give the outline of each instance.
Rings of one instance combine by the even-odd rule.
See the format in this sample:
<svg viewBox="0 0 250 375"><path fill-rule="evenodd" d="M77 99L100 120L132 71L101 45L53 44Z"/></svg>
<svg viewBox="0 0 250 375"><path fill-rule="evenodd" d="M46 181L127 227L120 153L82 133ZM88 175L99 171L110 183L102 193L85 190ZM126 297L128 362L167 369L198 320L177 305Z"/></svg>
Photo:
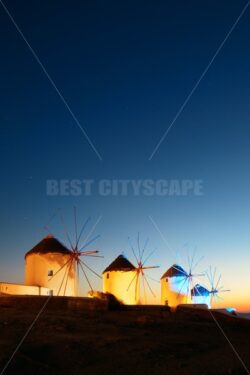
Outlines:
<svg viewBox="0 0 250 375"><path fill-rule="evenodd" d="M30 254L48 254L48 253L61 253L71 254L71 251L67 249L61 242L56 238L49 235L42 239L36 246L25 254L25 258Z"/></svg>

